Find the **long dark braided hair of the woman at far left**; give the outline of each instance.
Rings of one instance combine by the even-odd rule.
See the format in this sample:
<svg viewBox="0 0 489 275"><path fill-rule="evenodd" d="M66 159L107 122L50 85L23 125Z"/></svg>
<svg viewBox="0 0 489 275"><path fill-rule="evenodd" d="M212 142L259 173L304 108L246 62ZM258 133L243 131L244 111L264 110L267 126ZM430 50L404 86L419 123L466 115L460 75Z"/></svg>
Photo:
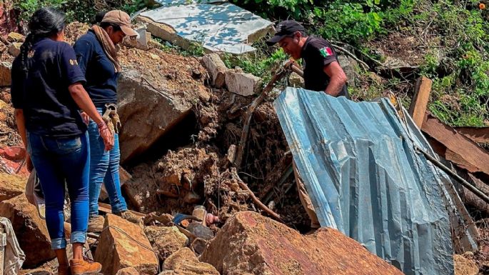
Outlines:
<svg viewBox="0 0 489 275"><path fill-rule="evenodd" d="M21 68L24 74L29 71L29 64L27 64L27 57L32 50L34 43L39 39L58 34L64 29L65 18L63 11L54 9L51 7L45 7L38 9L32 14L29 21L29 34L26 36L26 40L21 45Z"/></svg>

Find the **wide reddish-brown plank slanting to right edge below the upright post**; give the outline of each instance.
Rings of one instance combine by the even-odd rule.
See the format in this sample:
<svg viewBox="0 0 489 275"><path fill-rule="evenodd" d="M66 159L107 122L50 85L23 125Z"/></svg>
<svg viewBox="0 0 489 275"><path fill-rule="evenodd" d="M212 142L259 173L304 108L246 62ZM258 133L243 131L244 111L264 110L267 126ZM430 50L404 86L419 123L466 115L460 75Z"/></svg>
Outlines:
<svg viewBox="0 0 489 275"><path fill-rule="evenodd" d="M430 114L425 115L421 130L446 147L443 157L470 173L489 175L489 154L466 136L441 123Z"/></svg>

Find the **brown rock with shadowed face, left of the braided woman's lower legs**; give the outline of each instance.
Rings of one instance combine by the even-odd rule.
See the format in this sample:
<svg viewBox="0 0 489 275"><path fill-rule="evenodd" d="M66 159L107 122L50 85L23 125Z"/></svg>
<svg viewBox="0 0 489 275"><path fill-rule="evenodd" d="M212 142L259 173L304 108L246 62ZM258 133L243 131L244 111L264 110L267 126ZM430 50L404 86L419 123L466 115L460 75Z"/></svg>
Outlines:
<svg viewBox="0 0 489 275"><path fill-rule="evenodd" d="M56 256L51 249L45 221L39 217L36 206L29 204L24 194L1 201L0 216L9 219L14 227L19 245L26 254L24 267L38 266Z"/></svg>

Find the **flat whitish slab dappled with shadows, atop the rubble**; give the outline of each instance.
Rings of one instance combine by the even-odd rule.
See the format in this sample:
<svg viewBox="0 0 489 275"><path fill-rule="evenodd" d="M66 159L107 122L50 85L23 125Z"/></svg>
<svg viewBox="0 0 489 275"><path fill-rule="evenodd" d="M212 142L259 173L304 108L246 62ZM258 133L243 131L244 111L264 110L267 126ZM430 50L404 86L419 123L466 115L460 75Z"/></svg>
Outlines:
<svg viewBox="0 0 489 275"><path fill-rule="evenodd" d="M209 51L231 54L254 51L246 43L265 35L272 26L271 21L229 3L162 6L141 16L171 26L178 36L202 43Z"/></svg>

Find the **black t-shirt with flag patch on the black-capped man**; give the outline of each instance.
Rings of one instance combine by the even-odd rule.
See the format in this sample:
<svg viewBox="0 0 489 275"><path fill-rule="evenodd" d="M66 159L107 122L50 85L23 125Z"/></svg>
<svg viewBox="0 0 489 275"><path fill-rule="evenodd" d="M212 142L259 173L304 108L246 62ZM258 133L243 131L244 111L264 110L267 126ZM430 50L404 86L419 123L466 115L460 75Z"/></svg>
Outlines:
<svg viewBox="0 0 489 275"><path fill-rule="evenodd" d="M338 61L338 55L331 44L319 37L309 36L302 47L305 88L311 91L326 91L330 78L324 72L324 66ZM343 86L338 96L348 98L348 87Z"/></svg>

